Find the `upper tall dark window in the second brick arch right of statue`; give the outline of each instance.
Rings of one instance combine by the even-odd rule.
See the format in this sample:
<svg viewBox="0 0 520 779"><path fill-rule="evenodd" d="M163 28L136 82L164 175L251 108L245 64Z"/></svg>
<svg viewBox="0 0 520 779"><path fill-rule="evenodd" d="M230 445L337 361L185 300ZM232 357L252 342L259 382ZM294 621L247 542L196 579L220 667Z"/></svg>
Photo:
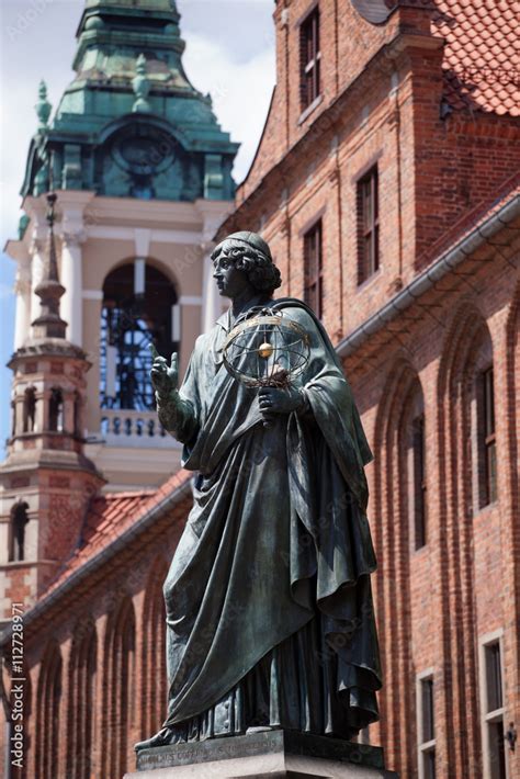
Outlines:
<svg viewBox="0 0 520 779"><path fill-rule="evenodd" d="M478 473L481 507L497 499L497 443L495 437L495 391L493 366L478 376Z"/></svg>

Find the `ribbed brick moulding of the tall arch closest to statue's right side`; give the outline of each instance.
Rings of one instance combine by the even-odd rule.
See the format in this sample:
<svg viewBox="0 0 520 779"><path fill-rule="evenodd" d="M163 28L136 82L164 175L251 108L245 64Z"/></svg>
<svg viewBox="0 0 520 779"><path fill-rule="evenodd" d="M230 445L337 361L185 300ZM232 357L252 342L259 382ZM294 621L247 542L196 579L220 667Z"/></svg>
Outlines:
<svg viewBox="0 0 520 779"><path fill-rule="evenodd" d="M382 387L374 429L374 488L372 516L374 543L378 560L384 560L384 572L376 579L375 597L378 620L386 630L381 650L385 667L386 690L382 697L382 721L385 738L399 743L407 737L407 727L416 716L412 686L404 686L403 678L412 678L411 560L418 546L418 530L426 519L426 461L422 454L423 402L419 375L406 353L388 360L389 373ZM427 420L428 421L428 420ZM420 467L422 465L422 467ZM417 490L417 493L416 493ZM423 499L423 504L420 500ZM403 652L396 653L395 646ZM397 715L396 712L399 712ZM404 768L411 776L411 753L404 758Z"/></svg>

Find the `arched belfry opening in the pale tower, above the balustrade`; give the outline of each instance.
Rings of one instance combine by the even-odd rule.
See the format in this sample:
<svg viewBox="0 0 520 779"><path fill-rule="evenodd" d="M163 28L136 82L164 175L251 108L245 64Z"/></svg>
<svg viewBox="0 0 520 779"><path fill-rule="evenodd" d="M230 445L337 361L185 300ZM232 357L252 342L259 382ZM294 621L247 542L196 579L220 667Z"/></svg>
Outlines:
<svg viewBox="0 0 520 779"><path fill-rule="evenodd" d="M139 259L112 271L103 285L101 407L154 408L149 345L169 357L179 340L177 294L167 276Z"/></svg>

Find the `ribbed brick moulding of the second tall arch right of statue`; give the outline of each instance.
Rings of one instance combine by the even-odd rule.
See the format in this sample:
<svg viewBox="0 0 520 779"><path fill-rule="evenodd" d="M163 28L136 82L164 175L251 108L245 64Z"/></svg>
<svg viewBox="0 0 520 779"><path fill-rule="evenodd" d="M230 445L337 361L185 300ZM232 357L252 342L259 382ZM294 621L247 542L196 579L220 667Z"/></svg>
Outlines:
<svg viewBox="0 0 520 779"><path fill-rule="evenodd" d="M485 372L493 365L493 342L481 312L464 301L454 312L439 365L439 518L440 598L446 613L465 614L456 621L456 630L441 626L445 646L444 659L452 662L451 671L464 679L464 712L457 719L449 712L450 729L470 729L479 716L477 657L474 651L477 623L475 591L475 516L483 506L479 436ZM493 530L489 529L489 533ZM493 538L490 535L490 538ZM478 566L477 566L478 567ZM453 622L452 622L453 626ZM481 733L464 745L467 765L481 759ZM449 752L453 755L453 743Z"/></svg>

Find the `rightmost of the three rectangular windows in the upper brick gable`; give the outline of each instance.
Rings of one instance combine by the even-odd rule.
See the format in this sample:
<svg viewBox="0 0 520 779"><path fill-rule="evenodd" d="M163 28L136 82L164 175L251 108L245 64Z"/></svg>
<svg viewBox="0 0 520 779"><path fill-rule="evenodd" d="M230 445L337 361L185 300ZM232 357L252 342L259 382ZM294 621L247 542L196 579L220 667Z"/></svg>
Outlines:
<svg viewBox="0 0 520 779"><path fill-rule="evenodd" d="M358 284L380 268L377 166L358 181Z"/></svg>

